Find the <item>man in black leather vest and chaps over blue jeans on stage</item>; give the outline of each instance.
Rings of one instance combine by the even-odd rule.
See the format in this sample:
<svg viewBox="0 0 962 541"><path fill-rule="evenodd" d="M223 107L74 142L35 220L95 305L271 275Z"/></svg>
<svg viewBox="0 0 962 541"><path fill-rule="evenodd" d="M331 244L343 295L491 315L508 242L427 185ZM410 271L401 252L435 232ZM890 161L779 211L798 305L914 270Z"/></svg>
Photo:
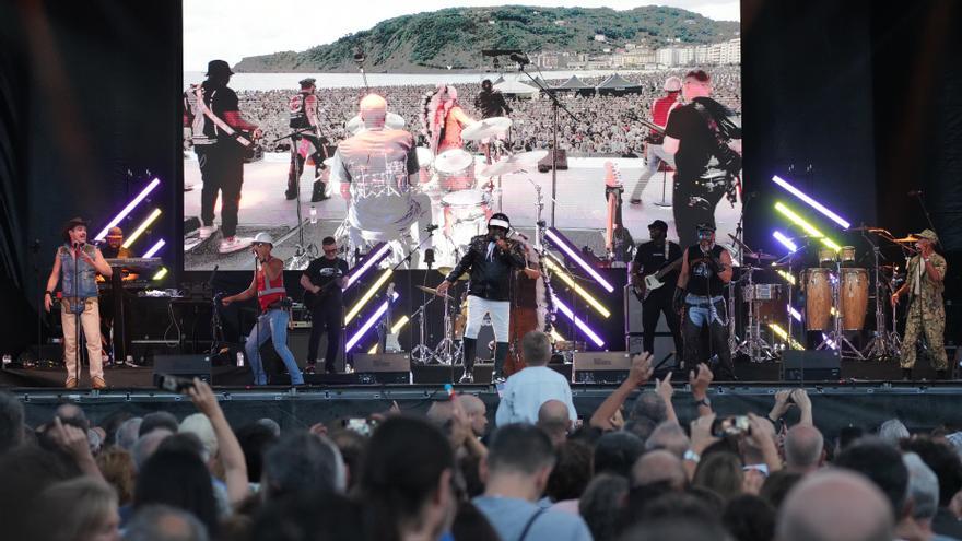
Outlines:
<svg viewBox="0 0 962 541"><path fill-rule="evenodd" d="M731 281L731 255L715 244L714 224L700 223L696 233L699 244L684 251L673 299L674 309L682 315L684 364L693 368L707 363L716 379L735 379L723 296L725 285ZM707 351L702 344L705 328Z"/></svg>

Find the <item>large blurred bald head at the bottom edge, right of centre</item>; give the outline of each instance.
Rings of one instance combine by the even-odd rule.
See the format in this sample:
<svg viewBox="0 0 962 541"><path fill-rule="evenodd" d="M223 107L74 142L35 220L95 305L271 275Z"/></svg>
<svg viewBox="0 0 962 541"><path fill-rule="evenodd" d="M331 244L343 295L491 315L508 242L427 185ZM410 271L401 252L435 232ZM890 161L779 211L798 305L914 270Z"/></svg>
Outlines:
<svg viewBox="0 0 962 541"><path fill-rule="evenodd" d="M885 496L864 477L818 471L782 504L777 541L891 541L894 520Z"/></svg>

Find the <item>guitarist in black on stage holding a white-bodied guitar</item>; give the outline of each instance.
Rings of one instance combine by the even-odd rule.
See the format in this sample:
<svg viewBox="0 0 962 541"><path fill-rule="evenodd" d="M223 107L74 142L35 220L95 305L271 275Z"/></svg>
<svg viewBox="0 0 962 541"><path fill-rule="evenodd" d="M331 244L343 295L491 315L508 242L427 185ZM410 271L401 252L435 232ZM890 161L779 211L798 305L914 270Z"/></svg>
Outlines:
<svg viewBox="0 0 962 541"><path fill-rule="evenodd" d="M642 302L642 330L644 351L655 351L655 329L658 318L665 314L665 321L674 339L674 354L680 358L684 351L681 342L678 314L671 307L671 296L678 282L678 268L681 261L681 246L668 240L668 224L655 220L648 225L652 240L638 245L631 266L631 282L635 296ZM657 289L648 289L645 277L655 274L661 282Z"/></svg>

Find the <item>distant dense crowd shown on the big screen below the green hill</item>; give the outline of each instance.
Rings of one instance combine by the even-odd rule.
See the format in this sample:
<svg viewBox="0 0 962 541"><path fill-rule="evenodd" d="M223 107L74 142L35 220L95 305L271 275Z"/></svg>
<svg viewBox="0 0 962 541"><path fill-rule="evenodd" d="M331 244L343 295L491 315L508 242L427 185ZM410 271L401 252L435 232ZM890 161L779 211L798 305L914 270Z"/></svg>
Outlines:
<svg viewBox="0 0 962 541"><path fill-rule="evenodd" d="M580 95L575 92L559 92L556 95L574 113L579 121L567 115L559 116L559 148L572 156L619 156L640 157L648 129L637 118L649 119L652 101L665 95L662 85L668 77L683 77L687 70L658 70L647 73L626 74L631 83L637 84L638 93L625 95ZM711 68L713 97L736 114L741 113L741 72L738 66ZM514 75L508 75L514 77ZM479 75L477 83L456 84L461 97L460 105L472 118L481 118L473 104L473 96L481 91L483 78L496 81L497 74ZM291 140L284 136L291 132L288 126L288 101L297 92L297 75L291 77L289 89L266 91L238 91L241 111L245 118L263 131L265 152L289 152ZM585 78L587 86L600 84L605 77ZM520 82L530 82L524 75ZM548 86L560 85L564 80L548 80ZM359 75L360 83L360 75ZM368 91L363 87L326 89L324 75L317 78L317 96L320 104L321 132L331 141L341 141L350 134L345 122L357 115L357 103ZM400 115L407 122L404 129L418 133L422 99L433 85L372 86L369 92L385 97L388 109ZM551 101L547 97L536 99L512 99L514 109L511 139L514 150L535 150L551 148L552 115ZM189 140L186 141L189 144ZM469 151L478 149L468 146Z"/></svg>

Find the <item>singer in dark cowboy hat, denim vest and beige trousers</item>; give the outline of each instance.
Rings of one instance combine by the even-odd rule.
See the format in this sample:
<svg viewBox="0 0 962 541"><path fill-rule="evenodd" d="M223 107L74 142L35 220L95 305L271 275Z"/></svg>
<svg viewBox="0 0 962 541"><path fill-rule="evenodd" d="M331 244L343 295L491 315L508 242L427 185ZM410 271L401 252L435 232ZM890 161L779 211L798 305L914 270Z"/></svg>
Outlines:
<svg viewBox="0 0 962 541"><path fill-rule="evenodd" d="M86 340L91 387L107 387L101 349L97 273L110 278L114 270L104 260L101 250L86 243L86 222L74 217L63 226L63 245L57 248L54 269L44 292L44 308L50 311L54 306L54 290L61 282L60 322L63 326L63 362L67 365L64 387L68 389L75 388L80 380L78 320Z"/></svg>

